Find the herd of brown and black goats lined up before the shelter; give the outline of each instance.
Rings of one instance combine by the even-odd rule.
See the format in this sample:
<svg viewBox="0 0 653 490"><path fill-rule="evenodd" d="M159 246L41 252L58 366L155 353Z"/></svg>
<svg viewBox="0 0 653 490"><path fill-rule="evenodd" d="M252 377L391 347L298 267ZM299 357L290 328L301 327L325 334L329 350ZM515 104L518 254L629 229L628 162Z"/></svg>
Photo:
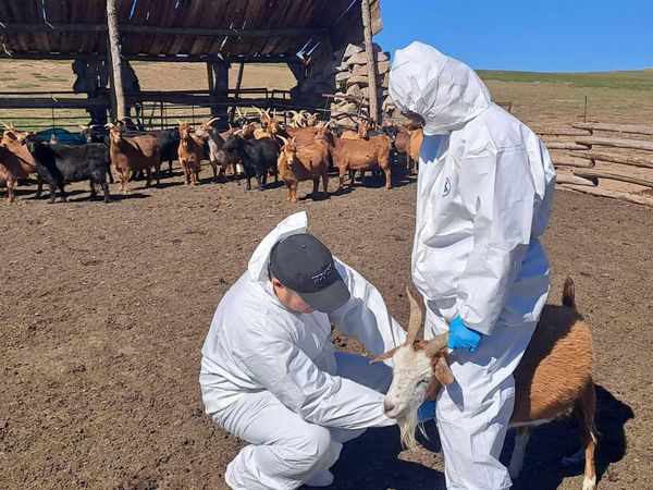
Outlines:
<svg viewBox="0 0 653 490"><path fill-rule="evenodd" d="M200 182L201 161L208 156L214 181L244 175L250 189L255 177L258 189L262 191L269 175L275 180L281 176L288 188L287 200L296 203L301 181L313 182L315 198L322 180L328 196L331 168L337 169L338 191L345 176L352 186L357 171L362 176L367 170L379 169L385 174L385 188L390 188L393 155L396 158L404 154L408 171L417 170L422 133L410 124L384 124L374 130L369 122L359 120L357 131L341 131L333 121L320 121L317 114L306 111L289 111L291 122L286 125L275 111L270 114L269 109L254 109L258 111L256 119L238 109L236 127L226 132L214 127L215 118L195 130L188 122L178 122L176 128L151 132L127 130L122 123L84 126L84 145L46 142L35 133L20 132L5 124L0 140L0 183L4 182L10 203L14 200L17 183L30 176L38 181L36 197L40 197L42 182L47 182L49 203L54 203L57 189L65 201L65 184L83 181L90 184L91 199L101 188L104 201L109 201L111 168L122 193L128 193L130 180L141 174L148 187L152 177L159 184L162 162L169 162L171 173L175 159L183 170L184 184L195 185Z"/></svg>

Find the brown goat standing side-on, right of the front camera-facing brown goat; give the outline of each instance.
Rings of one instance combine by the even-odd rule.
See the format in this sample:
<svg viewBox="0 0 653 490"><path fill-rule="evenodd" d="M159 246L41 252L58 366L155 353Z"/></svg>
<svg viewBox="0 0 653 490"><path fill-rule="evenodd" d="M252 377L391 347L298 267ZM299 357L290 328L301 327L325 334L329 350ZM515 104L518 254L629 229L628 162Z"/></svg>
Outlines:
<svg viewBox="0 0 653 490"><path fill-rule="evenodd" d="M385 135L372 136L369 139L336 138L331 158L340 173L338 191L343 188L347 172L373 170L375 168L381 168L385 173L385 188L389 189L392 185L391 145L392 140ZM354 185L352 175L349 175L349 185Z"/></svg>

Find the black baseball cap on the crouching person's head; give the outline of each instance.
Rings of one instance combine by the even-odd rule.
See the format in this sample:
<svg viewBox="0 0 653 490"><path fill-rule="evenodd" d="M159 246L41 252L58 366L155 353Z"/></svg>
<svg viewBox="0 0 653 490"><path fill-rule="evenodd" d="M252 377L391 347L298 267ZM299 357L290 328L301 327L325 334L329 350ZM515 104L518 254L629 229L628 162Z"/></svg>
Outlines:
<svg viewBox="0 0 653 490"><path fill-rule="evenodd" d="M295 291L308 305L331 313L350 297L326 245L308 233L279 242L270 253L270 273Z"/></svg>

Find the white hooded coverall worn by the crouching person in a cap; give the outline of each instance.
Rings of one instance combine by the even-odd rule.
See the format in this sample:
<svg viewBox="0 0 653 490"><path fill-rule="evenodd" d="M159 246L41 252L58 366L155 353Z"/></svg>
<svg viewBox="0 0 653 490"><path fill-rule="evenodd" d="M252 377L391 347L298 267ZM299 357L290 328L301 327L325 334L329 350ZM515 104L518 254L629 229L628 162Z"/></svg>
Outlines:
<svg viewBox="0 0 653 490"><path fill-rule="evenodd" d="M227 466L233 489L295 489L316 477L316 486L328 485L343 442L395 424L383 413L392 370L335 353L330 341L332 323L373 355L405 341L379 291L334 257L352 294L334 313L294 313L274 294L270 252L306 231L306 213L298 212L264 237L218 305L201 350L207 414L250 443Z"/></svg>

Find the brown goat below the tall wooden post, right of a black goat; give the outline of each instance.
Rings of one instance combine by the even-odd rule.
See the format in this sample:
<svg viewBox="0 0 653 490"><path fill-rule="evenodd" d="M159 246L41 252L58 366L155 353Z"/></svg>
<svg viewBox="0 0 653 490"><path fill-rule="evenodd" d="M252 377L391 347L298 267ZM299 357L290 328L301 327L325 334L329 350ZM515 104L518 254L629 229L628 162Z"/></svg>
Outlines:
<svg viewBox="0 0 653 490"><path fill-rule="evenodd" d="M128 182L132 172L144 170L147 184L151 185L152 169L156 172L157 184L160 183L161 157L159 142L153 135L123 136L124 126L107 124L111 140L111 162L120 179L120 189L123 194L130 192Z"/></svg>

